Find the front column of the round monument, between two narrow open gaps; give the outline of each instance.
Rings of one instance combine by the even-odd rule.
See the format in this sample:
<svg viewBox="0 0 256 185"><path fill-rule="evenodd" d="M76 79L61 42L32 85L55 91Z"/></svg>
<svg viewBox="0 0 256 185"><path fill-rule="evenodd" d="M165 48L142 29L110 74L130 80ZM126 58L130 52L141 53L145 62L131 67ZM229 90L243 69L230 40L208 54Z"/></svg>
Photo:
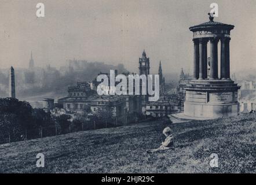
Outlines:
<svg viewBox="0 0 256 185"><path fill-rule="evenodd" d="M214 80L216 78L216 39L210 39L210 80Z"/></svg>

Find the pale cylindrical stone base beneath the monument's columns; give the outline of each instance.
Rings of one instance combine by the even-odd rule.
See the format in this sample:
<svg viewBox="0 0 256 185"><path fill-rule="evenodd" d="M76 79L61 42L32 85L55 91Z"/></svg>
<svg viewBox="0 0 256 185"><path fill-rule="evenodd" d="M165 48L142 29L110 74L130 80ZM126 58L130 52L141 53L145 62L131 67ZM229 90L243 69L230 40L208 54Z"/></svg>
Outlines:
<svg viewBox="0 0 256 185"><path fill-rule="evenodd" d="M237 116L239 88L232 80L191 80L185 88L184 115L195 119Z"/></svg>

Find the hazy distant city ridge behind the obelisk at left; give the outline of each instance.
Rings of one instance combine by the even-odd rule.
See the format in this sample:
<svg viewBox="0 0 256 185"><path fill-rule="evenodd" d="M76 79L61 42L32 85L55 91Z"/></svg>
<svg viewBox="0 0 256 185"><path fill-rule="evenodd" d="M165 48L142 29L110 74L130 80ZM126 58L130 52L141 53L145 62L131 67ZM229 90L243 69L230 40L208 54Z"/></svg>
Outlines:
<svg viewBox="0 0 256 185"><path fill-rule="evenodd" d="M100 72L118 69L119 73L127 72L122 64L109 65L104 62L88 62L85 60L68 60L60 68L46 66L34 69L16 68L16 97L27 99L52 94L62 97L67 94L67 87L74 86L77 81L92 81ZM7 97L9 90L9 69L0 69L0 97Z"/></svg>

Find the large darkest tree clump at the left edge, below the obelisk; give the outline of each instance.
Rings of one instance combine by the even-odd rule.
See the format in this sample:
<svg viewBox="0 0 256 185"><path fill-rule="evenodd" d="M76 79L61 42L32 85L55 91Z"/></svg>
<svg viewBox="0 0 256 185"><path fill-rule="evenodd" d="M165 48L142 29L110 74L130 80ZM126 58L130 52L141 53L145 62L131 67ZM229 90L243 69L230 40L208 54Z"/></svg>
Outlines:
<svg viewBox="0 0 256 185"><path fill-rule="evenodd" d="M6 138L12 142L36 138L39 129L54 125L51 114L43 109L32 109L28 102L15 98L0 98L0 143Z"/></svg>

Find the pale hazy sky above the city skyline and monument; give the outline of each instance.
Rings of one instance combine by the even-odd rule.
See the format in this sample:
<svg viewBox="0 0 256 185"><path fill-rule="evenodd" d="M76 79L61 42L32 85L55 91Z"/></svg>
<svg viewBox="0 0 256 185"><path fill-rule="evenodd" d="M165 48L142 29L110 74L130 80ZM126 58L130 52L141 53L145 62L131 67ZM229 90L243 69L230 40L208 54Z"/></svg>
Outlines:
<svg viewBox="0 0 256 185"><path fill-rule="evenodd" d="M45 17L36 17L36 3ZM77 58L122 63L138 71L143 49L152 72L192 70L192 25L209 21L210 4L218 3L215 21L233 24L231 70L256 70L256 1L242 0L0 0L0 68L60 66Z"/></svg>

